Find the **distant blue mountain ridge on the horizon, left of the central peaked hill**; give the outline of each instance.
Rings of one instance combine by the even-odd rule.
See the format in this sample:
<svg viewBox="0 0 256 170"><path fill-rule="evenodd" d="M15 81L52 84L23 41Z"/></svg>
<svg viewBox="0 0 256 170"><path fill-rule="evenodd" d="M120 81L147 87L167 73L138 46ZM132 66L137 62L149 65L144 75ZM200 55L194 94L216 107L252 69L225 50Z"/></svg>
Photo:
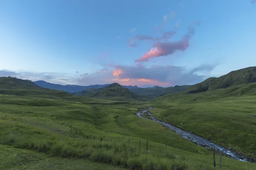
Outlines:
<svg viewBox="0 0 256 170"><path fill-rule="evenodd" d="M96 89L96 88L103 88L103 87L106 87L106 86L110 85L110 84L88 85L88 86L83 86L83 85L58 85L58 84L52 84L52 83L49 83L49 82L45 82L43 80L35 81L34 83L36 85L39 85L42 88L49 88L49 89L52 89L52 90L65 91L65 92L70 93L70 94L74 94L74 93L77 93L77 92L85 90L85 89L93 90L93 89ZM122 87L128 88L128 89L138 88L137 86L131 86L131 85L129 85L129 86L123 85Z"/></svg>

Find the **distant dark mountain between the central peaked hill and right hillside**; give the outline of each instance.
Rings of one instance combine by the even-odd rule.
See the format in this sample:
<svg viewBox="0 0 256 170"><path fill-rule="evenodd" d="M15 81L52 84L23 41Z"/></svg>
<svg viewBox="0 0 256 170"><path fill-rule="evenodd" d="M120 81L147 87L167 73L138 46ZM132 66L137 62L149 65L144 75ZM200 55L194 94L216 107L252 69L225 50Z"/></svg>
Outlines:
<svg viewBox="0 0 256 170"><path fill-rule="evenodd" d="M168 88L154 86L152 88L131 88L130 91L149 97L159 97L169 93L182 92L189 87L191 87L191 85L176 85Z"/></svg>

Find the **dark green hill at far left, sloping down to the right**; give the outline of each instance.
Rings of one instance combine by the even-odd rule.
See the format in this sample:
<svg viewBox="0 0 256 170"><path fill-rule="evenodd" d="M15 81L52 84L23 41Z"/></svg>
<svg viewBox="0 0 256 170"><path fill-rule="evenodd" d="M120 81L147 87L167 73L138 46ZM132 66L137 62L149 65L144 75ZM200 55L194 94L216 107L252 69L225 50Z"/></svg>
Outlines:
<svg viewBox="0 0 256 170"><path fill-rule="evenodd" d="M119 101L106 101L103 99L81 97L62 91L41 88L30 80L17 79L14 77L0 77L0 94L41 98L36 102L33 100L24 100L20 102L20 105L54 105L54 103L45 99L67 100L92 104L104 102L108 103L108 105L120 103Z"/></svg>

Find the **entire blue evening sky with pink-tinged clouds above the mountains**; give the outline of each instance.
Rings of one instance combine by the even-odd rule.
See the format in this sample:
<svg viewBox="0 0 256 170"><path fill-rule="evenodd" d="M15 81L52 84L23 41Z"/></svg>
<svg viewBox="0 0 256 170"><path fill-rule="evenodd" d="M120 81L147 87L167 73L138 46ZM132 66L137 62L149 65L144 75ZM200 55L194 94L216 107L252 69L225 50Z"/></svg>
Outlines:
<svg viewBox="0 0 256 170"><path fill-rule="evenodd" d="M256 63L256 0L0 0L0 77L192 85Z"/></svg>

